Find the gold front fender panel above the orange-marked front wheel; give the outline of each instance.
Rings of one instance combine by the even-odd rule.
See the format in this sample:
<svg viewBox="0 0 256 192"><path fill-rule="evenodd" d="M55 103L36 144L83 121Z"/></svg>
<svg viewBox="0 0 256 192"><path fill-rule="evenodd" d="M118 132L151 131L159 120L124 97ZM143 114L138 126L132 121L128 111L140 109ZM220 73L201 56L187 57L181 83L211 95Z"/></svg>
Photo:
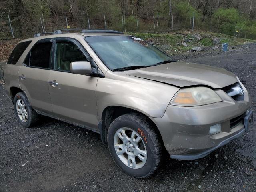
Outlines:
<svg viewBox="0 0 256 192"><path fill-rule="evenodd" d="M168 84L107 72L105 78L98 78L96 88L98 118L101 120L108 106L122 106L161 118L178 90Z"/></svg>

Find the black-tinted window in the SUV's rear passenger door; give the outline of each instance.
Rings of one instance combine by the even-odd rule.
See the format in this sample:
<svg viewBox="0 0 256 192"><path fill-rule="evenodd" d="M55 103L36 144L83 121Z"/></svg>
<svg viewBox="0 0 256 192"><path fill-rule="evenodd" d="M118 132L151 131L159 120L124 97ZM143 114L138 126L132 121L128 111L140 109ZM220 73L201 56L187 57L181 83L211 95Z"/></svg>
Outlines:
<svg viewBox="0 0 256 192"><path fill-rule="evenodd" d="M50 55L52 49L52 42L36 44L28 54L24 63L27 66L38 68L51 68Z"/></svg>

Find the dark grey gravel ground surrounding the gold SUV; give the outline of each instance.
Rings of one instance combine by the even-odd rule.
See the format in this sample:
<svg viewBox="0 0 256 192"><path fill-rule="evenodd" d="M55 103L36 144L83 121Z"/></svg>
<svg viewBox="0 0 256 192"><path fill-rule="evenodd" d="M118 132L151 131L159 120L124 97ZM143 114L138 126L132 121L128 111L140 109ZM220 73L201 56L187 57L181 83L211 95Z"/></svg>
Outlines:
<svg viewBox="0 0 256 192"><path fill-rule="evenodd" d="M187 58L188 57L188 58ZM225 68L246 81L256 102L256 44L180 60ZM44 117L23 128L5 96L0 62L0 191L256 191L256 126L205 158L166 160L151 178L124 174L94 132ZM255 118L254 118L255 119Z"/></svg>

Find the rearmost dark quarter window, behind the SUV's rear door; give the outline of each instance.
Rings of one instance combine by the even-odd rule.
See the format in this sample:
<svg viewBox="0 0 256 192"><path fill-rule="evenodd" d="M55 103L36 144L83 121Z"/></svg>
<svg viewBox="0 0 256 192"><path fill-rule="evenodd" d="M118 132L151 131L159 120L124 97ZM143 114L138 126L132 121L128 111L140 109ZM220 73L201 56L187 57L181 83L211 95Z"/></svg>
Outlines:
<svg viewBox="0 0 256 192"><path fill-rule="evenodd" d="M26 48L29 46L31 42L32 41L25 41L25 42L18 43L15 46L14 50L12 50L12 53L8 58L7 64L15 65L18 62L22 53L26 50Z"/></svg>

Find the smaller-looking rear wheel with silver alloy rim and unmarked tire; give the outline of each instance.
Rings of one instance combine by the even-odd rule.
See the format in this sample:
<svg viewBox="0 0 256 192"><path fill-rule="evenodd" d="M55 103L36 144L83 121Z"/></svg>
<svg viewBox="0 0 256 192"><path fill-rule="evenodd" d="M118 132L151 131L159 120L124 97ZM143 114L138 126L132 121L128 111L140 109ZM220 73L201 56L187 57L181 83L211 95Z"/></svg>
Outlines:
<svg viewBox="0 0 256 192"><path fill-rule="evenodd" d="M20 124L26 128L32 127L38 122L39 115L30 106L24 92L19 92L15 95L14 111Z"/></svg>

